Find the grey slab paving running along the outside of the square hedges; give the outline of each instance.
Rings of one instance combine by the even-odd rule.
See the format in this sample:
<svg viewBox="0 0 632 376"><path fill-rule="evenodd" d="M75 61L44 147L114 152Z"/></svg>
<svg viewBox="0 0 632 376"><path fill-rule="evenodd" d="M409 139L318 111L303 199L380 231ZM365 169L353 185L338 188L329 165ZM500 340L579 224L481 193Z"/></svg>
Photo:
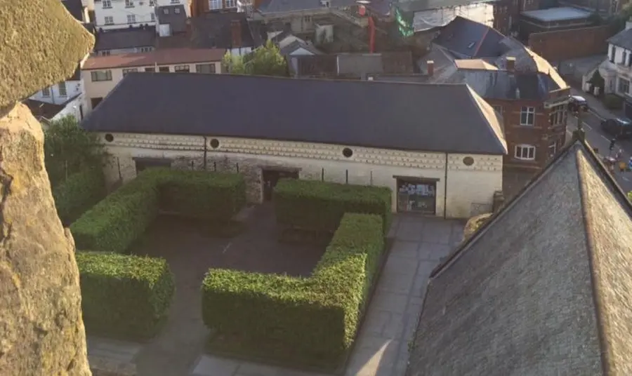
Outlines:
<svg viewBox="0 0 632 376"><path fill-rule="evenodd" d="M389 236L395 241L376 293L350 356L348 376L402 376L430 271L463 236L464 222L395 215ZM91 338L88 355L120 363L136 361L138 344ZM199 354L191 376L318 376L267 365ZM160 376L143 375L139 376ZM166 375L172 376L172 375ZM323 375L324 376L324 375Z"/></svg>

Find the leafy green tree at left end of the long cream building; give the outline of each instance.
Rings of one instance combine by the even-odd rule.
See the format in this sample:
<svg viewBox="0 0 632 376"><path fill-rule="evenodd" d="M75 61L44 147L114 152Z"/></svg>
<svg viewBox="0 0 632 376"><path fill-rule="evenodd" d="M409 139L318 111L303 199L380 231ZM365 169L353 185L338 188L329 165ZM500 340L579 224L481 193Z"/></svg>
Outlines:
<svg viewBox="0 0 632 376"><path fill-rule="evenodd" d="M79 127L73 116L53 121L44 131L44 163L53 187L72 173L103 168L105 156L98 135Z"/></svg>

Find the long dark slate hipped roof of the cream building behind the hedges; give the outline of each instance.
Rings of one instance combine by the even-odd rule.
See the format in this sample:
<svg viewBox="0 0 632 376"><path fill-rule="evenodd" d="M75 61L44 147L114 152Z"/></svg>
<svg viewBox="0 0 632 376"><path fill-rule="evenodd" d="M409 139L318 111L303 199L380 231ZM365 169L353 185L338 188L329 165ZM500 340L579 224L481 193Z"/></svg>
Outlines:
<svg viewBox="0 0 632 376"><path fill-rule="evenodd" d="M133 73L82 125L112 133L506 154L501 119L466 85Z"/></svg>

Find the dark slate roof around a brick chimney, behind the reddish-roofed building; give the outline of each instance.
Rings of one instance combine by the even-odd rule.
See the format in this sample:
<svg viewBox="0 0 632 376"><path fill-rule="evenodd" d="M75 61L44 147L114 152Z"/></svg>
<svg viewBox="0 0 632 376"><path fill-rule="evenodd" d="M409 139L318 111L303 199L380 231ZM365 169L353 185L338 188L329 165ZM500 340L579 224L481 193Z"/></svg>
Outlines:
<svg viewBox="0 0 632 376"><path fill-rule="evenodd" d="M209 12L192 17L190 20L192 47L233 48L232 35L230 34L230 24L233 20L239 20L242 24L242 46L239 47L256 47L260 45L260 43L255 43L257 39L261 41L261 38L253 35L246 19L246 13Z"/></svg>

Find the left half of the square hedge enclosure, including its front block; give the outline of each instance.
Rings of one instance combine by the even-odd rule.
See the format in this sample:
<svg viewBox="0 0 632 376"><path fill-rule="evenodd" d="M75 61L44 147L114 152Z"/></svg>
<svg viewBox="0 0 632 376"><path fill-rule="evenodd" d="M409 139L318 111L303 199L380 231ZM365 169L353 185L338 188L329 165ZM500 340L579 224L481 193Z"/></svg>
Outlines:
<svg viewBox="0 0 632 376"><path fill-rule="evenodd" d="M241 175L154 168L81 215L70 231L79 250L86 329L131 340L158 333L173 297L173 274L165 260L121 253L162 211L220 222L244 204Z"/></svg>

